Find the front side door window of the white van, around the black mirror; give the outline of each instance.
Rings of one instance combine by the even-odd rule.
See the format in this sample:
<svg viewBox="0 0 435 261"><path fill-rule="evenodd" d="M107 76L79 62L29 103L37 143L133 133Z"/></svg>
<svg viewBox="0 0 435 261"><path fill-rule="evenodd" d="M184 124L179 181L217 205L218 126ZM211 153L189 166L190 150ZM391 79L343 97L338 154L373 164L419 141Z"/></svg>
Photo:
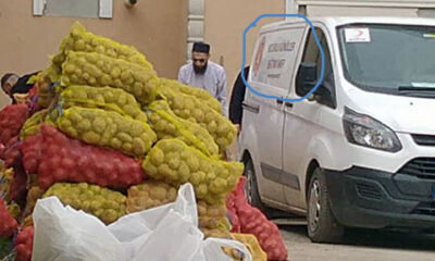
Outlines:
<svg viewBox="0 0 435 261"><path fill-rule="evenodd" d="M335 108L335 103L336 103L335 102L335 84L334 84L333 66L332 66L332 62L331 62L330 47L326 41L326 36L322 29L315 28L315 34L322 46L323 53L325 54L325 69L324 69L322 85L325 86L331 91L331 95L333 97L333 102L332 102L333 104L325 103L325 105ZM315 41L314 35L312 34L311 29L310 29L310 33L308 34L306 49L304 49L303 57L302 57L302 63L315 63L316 69L318 69L318 78L320 78L321 72L322 72L322 53L320 52L319 46ZM296 94L301 97L303 97L306 95L306 94L302 94L302 91L300 91L298 88L296 88Z"/></svg>

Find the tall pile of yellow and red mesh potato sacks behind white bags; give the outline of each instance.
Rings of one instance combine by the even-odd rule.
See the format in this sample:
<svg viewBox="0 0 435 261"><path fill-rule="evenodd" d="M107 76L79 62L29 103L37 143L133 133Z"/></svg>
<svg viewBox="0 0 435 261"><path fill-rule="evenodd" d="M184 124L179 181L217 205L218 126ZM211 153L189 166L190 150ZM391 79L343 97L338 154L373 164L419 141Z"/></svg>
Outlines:
<svg viewBox="0 0 435 261"><path fill-rule="evenodd" d="M206 237L237 239L253 260L287 260L277 227L235 203L244 165L222 156L236 128L206 90L158 77L137 49L79 23L35 88L30 104L0 111L0 259L32 259L38 199L55 196L111 224L175 201L190 183Z"/></svg>

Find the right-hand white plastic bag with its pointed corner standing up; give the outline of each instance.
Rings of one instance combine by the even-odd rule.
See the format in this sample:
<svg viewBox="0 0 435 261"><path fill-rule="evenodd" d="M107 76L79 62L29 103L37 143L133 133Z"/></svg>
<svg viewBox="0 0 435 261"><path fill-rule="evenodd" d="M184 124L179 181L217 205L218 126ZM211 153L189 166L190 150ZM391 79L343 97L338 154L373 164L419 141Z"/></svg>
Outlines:
<svg viewBox="0 0 435 261"><path fill-rule="evenodd" d="M186 184L174 203L125 215L109 229L129 249L132 261L186 261L199 251L203 240L197 224L194 188Z"/></svg>

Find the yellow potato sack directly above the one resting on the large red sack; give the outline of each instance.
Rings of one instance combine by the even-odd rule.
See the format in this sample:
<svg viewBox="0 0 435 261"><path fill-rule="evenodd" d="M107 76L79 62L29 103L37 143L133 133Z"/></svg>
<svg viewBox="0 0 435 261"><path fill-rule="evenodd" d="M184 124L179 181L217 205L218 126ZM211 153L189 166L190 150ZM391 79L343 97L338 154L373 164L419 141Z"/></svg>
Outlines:
<svg viewBox="0 0 435 261"><path fill-rule="evenodd" d="M135 97L122 89L76 85L64 89L61 99L64 108L98 108L147 122L147 115L140 110Z"/></svg>

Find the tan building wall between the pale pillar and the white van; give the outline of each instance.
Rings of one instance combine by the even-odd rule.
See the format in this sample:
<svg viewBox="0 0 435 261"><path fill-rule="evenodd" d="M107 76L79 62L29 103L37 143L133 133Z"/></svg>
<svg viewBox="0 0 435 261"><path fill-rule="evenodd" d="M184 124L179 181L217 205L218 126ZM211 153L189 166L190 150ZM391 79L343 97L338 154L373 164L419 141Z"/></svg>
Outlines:
<svg viewBox="0 0 435 261"><path fill-rule="evenodd" d="M228 98L235 77L241 69L243 33L261 14L285 13L285 0L206 0L204 40L211 45L211 60L225 67ZM249 64L254 40L265 23L278 18L262 18L247 35ZM279 18L281 20L281 18Z"/></svg>

